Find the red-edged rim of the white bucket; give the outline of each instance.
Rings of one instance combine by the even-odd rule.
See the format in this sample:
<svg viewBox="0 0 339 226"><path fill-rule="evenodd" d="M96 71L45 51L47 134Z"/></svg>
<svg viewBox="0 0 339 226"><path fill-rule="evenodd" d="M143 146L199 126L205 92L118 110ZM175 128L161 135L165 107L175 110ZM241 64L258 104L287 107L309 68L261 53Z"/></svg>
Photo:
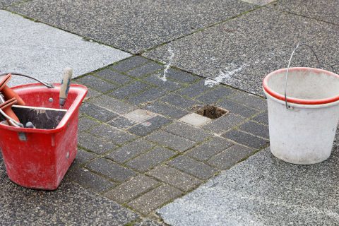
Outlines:
<svg viewBox="0 0 339 226"><path fill-rule="evenodd" d="M310 69L313 70L313 71L316 71L317 73L325 73L328 76L335 76L335 77L339 78L339 76L337 74L335 74L331 71L326 71L326 70L322 70L322 69L297 67L297 68L290 68L288 71L304 71L304 70L310 70ZM276 93L275 91L270 89L268 87L268 80L269 80L270 76L274 76L277 73L281 73L281 72L285 72L285 71L287 71L287 69L279 69L277 71L273 71L273 72L269 73L263 79L263 89L266 91L266 93L268 93L272 97L277 98L278 100L283 100L283 101L285 101L285 96L280 95L279 93ZM335 101L338 101L338 100L339 100L339 95L334 96L334 97L329 97L329 98L326 98L326 99L319 99L319 100L305 100L305 99L287 97L287 102L295 103L295 104L299 104L299 105L323 105L323 104L328 104L328 103L335 102Z"/></svg>

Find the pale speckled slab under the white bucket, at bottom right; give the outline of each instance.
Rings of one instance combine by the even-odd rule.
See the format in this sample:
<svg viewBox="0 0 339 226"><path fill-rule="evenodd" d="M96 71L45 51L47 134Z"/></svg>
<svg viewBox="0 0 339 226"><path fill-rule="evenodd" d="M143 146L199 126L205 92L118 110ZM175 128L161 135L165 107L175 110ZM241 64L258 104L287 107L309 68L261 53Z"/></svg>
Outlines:
<svg viewBox="0 0 339 226"><path fill-rule="evenodd" d="M338 144L325 162L292 165L269 149L158 210L169 225L337 225Z"/></svg>

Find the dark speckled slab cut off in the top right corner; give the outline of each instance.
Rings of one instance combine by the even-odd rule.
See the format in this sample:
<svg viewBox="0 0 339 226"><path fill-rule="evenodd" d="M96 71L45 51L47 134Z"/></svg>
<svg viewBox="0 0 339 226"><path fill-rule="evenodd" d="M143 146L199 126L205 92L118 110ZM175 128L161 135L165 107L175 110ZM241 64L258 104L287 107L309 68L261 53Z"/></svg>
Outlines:
<svg viewBox="0 0 339 226"><path fill-rule="evenodd" d="M269 7L339 25L337 0L280 0Z"/></svg>

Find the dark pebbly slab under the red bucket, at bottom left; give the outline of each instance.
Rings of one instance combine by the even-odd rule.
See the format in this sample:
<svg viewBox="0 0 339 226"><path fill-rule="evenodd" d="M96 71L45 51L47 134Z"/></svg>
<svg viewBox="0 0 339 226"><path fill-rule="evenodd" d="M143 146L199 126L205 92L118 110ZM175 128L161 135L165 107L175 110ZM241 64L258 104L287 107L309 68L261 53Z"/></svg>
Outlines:
<svg viewBox="0 0 339 226"><path fill-rule="evenodd" d="M138 215L64 180L52 192L10 182L0 160L0 225L124 225Z"/></svg>

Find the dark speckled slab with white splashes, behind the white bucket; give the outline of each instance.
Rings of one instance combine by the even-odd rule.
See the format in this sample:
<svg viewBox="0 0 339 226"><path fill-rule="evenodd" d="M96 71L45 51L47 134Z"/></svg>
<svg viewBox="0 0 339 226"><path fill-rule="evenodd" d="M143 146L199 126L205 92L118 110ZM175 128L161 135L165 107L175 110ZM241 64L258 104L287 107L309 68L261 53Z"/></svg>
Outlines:
<svg viewBox="0 0 339 226"><path fill-rule="evenodd" d="M225 23L175 40L143 54L250 93L263 95L263 77L285 68L297 42L314 47L325 69L339 71L339 29L311 18L259 8ZM309 49L296 52L292 66L313 66Z"/></svg>

